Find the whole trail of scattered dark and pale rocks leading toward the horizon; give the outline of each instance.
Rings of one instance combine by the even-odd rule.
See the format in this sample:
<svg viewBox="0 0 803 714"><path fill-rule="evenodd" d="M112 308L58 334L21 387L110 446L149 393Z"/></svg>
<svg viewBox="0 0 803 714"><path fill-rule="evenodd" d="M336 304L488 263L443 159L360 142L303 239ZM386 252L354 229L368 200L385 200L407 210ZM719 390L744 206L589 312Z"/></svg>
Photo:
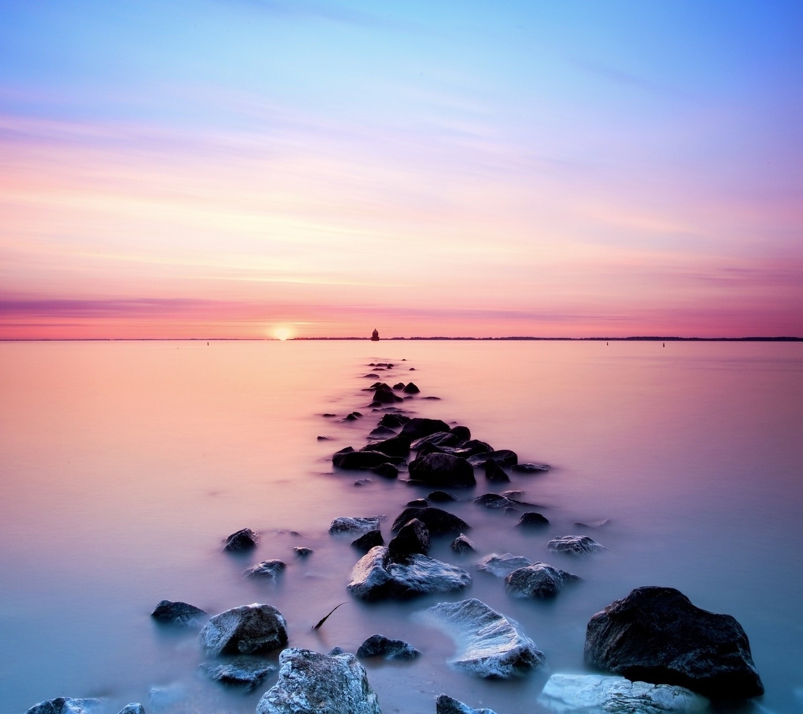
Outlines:
<svg viewBox="0 0 803 714"><path fill-rule="evenodd" d="M380 362L369 366L375 371L390 371L396 365ZM365 377L378 375L369 373ZM390 530L395 535L387 545L381 533L381 516L341 516L332 521L329 533L353 538L350 545L364 553L352 569L346 590L363 600L465 590L472 582L470 573L428 555L436 537L454 537L450 549L456 555L477 552L465 535L471 526L432 505L455 500L442 489L475 487L476 467L482 469L489 483L509 482L506 468L532 474L548 471L549 467L519 463L516 452L496 450L472 439L467 426L450 426L440 419L404 414L393 405L420 394L413 382L389 386L377 381L365 391L373 393L368 408L383 414L369 432L365 447L336 451L332 455L333 466L343 471L369 471L385 479L398 479L406 468L409 478L400 480L436 490L407 504L393 520ZM323 416L336 418L336 414ZM340 421L357 422L362 418L364 414L355 410ZM408 463L411 452L415 452L415 458ZM358 479L355 483L365 485L370 480ZM533 505L520 500L522 495L513 490L486 493L474 502L499 512L521 512ZM515 527L537 529L548 524L540 512L524 510ZM259 534L243 528L226 538L223 549L243 553L258 544ZM590 537L575 535L553 538L547 549L573 556L605 550ZM313 551L296 547L295 553L297 557L308 557ZM274 579L286 567L283 561L267 560L252 565L244 575ZM567 583L581 580L573 573L511 553L488 554L475 568L502 578L504 589L514 598L554 598ZM265 657L280 650L278 679L259 700L256 714L381 714L376 692L357 657L402 660L421 655L410 643L381 634L366 639L357 649L357 656L340 647L325 655L286 647L287 621L274 606L262 603L210 616L188 603L163 600L152 617L172 626L201 627L198 637L202 650L218 660L203 663L201 671L210 679L237 685L243 691L252 691L275 672L275 665ZM476 598L438 603L421 613L420 618L454 638L459 651L450 664L468 674L507 679L545 662L544 653L518 622ZM747 635L739 622L730 615L695 607L672 588L637 588L594 614L586 628L584 656L589 667L613 676L554 674L538 698L542 707L554 712L588 714L697 712L707 709L706 698L743 699L764 692ZM26 714L92 714L100 705L100 700L58 698L36 704ZM491 709L473 709L446 694L438 696L435 709L437 714L495 714ZM119 714L145 714L145 708L138 703L128 704Z"/></svg>

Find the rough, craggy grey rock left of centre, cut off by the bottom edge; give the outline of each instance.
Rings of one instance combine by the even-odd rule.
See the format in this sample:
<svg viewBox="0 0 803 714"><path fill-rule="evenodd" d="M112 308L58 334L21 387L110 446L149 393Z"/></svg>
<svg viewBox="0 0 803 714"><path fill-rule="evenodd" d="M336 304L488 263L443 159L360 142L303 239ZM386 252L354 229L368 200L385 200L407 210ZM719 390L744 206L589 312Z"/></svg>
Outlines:
<svg viewBox="0 0 803 714"><path fill-rule="evenodd" d="M354 655L291 647L279 655L279 681L256 714L381 714L376 692Z"/></svg>

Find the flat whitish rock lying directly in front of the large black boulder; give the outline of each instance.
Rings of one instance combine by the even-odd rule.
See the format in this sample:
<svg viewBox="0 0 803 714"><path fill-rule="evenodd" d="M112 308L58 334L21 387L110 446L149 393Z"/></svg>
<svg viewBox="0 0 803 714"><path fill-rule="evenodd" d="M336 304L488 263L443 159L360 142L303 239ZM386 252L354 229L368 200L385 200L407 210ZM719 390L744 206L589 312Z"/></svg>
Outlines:
<svg viewBox="0 0 803 714"><path fill-rule="evenodd" d="M556 714L707 712L707 700L683 687L631 682L624 677L552 675L538 704Z"/></svg>

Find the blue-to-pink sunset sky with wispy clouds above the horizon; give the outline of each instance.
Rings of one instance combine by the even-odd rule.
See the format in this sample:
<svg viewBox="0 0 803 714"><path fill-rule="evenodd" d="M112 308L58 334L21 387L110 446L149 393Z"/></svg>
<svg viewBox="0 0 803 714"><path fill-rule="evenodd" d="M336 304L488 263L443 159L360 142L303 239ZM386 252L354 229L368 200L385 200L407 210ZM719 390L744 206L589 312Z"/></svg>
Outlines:
<svg viewBox="0 0 803 714"><path fill-rule="evenodd" d="M799 0L0 0L0 338L803 336Z"/></svg>

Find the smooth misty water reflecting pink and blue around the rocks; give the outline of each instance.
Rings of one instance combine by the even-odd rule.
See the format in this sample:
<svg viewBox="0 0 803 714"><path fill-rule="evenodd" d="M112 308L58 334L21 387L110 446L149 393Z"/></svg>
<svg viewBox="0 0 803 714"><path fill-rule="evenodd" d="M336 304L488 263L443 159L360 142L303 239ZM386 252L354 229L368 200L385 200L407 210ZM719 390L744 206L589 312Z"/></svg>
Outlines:
<svg viewBox="0 0 803 714"><path fill-rule="evenodd" d="M472 574L463 593L365 603L345 590L360 553L328 535L331 520L383 514L387 537L406 502L430 491L377 477L355 487L364 473L333 473L332 452L363 446L381 416L361 391L372 361L397 365L383 381L421 387L403 405L411 413L552 465L510 484L488 484L478 469L477 488L454 492L463 500L444 508L471 524L480 553L456 556L442 538L430 555ZM365 418L321 416L354 409ZM544 532L522 533L516 514L471 503L508 488L542 507ZM441 692L499 714L540 712L548 675L587 671L594 612L639 585L669 585L748 634L767 693L720 711L800 712L801 512L799 344L0 344L0 710L97 696L108 712L135 701L149 714L254 712L275 674L249 694L205 679L197 633L149 617L168 598L210 613L271 603L290 645L316 651L353 652L374 633L405 639L421 657L365 663L385 714L434 712ZM609 523L574 525L597 520ZM259 547L222 553L222 539L245 527L261 534ZM550 538L574 533L607 550L547 552ZM315 553L302 561L296 545ZM552 602L514 600L474 569L494 552L584 580ZM277 582L243 578L269 558L288 564ZM415 614L467 597L520 622L546 666L510 681L452 670L454 643ZM153 687L165 687L161 704L149 704Z"/></svg>

